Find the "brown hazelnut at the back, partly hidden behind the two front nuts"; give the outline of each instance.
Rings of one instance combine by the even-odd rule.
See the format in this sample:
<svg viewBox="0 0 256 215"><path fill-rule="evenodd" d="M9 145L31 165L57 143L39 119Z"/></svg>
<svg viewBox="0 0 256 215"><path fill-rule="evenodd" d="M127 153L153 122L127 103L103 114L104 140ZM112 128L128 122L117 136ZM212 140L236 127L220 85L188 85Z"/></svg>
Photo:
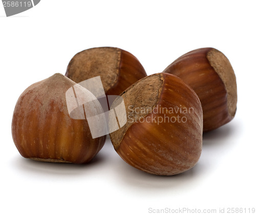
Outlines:
<svg viewBox="0 0 256 215"><path fill-rule="evenodd" d="M114 47L98 47L77 53L69 62L66 76L79 83L100 76L106 95L119 95L146 76L139 60Z"/></svg>

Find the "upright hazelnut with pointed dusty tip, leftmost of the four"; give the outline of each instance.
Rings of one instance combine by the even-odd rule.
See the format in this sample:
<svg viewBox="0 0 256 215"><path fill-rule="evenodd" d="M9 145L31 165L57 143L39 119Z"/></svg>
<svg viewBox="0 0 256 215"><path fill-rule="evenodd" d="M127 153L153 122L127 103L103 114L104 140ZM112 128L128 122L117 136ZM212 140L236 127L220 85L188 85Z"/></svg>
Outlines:
<svg viewBox="0 0 256 215"><path fill-rule="evenodd" d="M12 137L23 157L86 163L102 148L105 136L93 139L86 119L69 116L66 92L75 84L66 76L55 74L32 84L20 95L12 118ZM87 95L93 98L89 91ZM95 105L100 108L100 104Z"/></svg>

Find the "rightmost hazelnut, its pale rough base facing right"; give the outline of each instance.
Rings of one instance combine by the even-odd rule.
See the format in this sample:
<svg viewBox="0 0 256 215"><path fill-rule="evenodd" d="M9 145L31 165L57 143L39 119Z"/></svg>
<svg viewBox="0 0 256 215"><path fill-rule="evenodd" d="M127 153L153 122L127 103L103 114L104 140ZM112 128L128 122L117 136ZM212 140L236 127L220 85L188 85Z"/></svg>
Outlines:
<svg viewBox="0 0 256 215"><path fill-rule="evenodd" d="M228 123L237 110L236 76L227 57L214 48L190 51L164 71L180 77L198 95L203 108L203 131Z"/></svg>

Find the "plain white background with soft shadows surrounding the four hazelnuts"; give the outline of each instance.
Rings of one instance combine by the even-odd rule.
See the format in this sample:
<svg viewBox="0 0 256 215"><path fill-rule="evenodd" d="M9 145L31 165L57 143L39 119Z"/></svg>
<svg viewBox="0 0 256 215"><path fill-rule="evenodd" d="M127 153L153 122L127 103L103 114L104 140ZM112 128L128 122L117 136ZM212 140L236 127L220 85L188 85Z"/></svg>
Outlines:
<svg viewBox="0 0 256 215"><path fill-rule="evenodd" d="M0 214L150 214L152 209L249 208L255 204L254 1L41 0L5 17L0 3ZM113 46L147 74L193 49L214 47L237 76L236 117L203 137L199 163L172 177L127 165L108 139L87 165L40 163L19 155L11 120L32 83L65 74L77 52ZM152 208L152 209L150 209ZM245 210L244 210L245 212Z"/></svg>

